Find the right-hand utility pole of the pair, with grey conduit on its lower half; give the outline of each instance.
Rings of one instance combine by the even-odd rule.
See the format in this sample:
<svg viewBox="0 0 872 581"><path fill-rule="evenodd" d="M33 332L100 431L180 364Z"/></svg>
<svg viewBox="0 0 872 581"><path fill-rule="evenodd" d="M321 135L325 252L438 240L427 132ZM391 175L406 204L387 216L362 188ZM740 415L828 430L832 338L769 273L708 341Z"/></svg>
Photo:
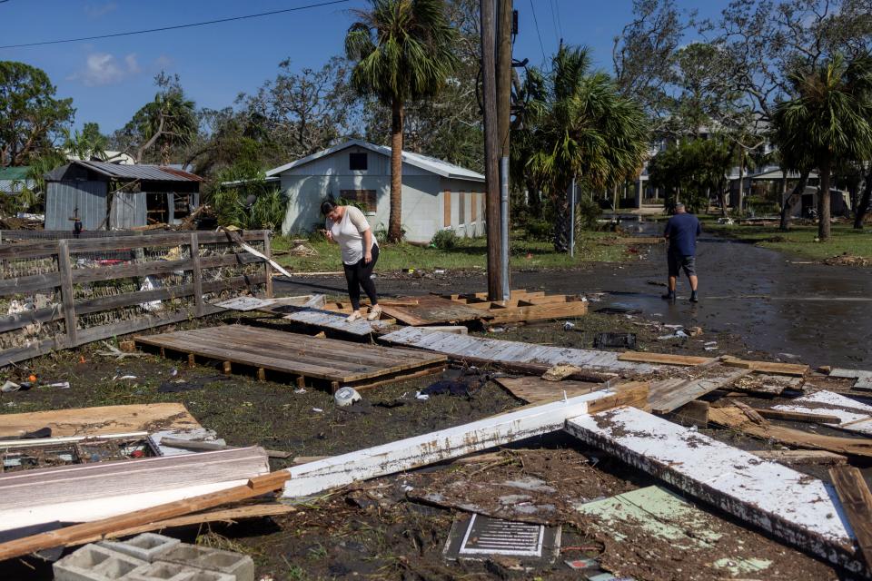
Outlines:
<svg viewBox="0 0 872 581"><path fill-rule="evenodd" d="M500 5L497 28L497 128L500 139L500 251L502 300L510 296L509 268L509 130L511 119L511 0Z"/></svg>

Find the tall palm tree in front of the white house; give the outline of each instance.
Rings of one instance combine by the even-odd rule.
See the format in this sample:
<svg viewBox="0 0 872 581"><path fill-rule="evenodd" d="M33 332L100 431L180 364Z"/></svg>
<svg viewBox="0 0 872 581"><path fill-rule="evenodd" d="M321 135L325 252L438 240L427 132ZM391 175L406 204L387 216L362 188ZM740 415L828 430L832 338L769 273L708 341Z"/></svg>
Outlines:
<svg viewBox="0 0 872 581"><path fill-rule="evenodd" d="M345 36L352 84L391 107L391 214L388 239L402 237L402 122L405 103L439 93L457 67L443 0L370 0Z"/></svg>

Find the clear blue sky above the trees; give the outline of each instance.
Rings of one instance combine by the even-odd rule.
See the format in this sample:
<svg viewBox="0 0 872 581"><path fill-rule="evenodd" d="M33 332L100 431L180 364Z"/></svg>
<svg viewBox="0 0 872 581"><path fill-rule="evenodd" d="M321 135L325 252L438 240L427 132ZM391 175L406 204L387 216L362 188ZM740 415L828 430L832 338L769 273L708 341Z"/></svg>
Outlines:
<svg viewBox="0 0 872 581"><path fill-rule="evenodd" d="M113 34L249 15L309 5L319 0L9 0L0 3L4 34L0 45ZM726 0L725 0L726 3ZM679 0L679 5L697 3ZM720 3L700 3L716 15ZM233 23L68 44L0 49L0 60L21 61L45 70L58 96L73 97L75 125L94 121L111 133L154 97L154 75L179 74L198 106L222 108L240 93L252 93L290 57L295 68L318 67L342 52L352 23L349 10L365 0L323 6ZM586 44L595 63L610 71L611 44L629 22L630 0L515 0L520 13L516 58L540 64L560 35Z"/></svg>

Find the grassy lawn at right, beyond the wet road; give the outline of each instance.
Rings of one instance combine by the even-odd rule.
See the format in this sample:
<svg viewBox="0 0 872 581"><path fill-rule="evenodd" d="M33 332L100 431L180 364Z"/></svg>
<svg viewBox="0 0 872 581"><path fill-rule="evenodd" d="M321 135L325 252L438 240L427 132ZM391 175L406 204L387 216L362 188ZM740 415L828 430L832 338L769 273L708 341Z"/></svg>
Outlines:
<svg viewBox="0 0 872 581"><path fill-rule="evenodd" d="M778 224L738 225L706 221L703 228L813 261L842 254L872 259L872 231L854 230L847 223L833 224L832 239L828 242L816 242L817 225L810 224L791 226L786 232L779 231Z"/></svg>

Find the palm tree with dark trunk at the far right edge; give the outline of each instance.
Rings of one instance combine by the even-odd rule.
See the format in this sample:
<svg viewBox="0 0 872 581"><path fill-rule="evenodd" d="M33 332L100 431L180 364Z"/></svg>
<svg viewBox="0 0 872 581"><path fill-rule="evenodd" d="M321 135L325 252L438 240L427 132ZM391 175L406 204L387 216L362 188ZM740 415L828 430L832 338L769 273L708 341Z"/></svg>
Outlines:
<svg viewBox="0 0 872 581"><path fill-rule="evenodd" d="M788 158L808 155L820 172L817 236L827 241L834 164L872 153L872 66L867 59L846 64L837 54L814 70L790 74L788 81L792 98L775 110L778 147Z"/></svg>

